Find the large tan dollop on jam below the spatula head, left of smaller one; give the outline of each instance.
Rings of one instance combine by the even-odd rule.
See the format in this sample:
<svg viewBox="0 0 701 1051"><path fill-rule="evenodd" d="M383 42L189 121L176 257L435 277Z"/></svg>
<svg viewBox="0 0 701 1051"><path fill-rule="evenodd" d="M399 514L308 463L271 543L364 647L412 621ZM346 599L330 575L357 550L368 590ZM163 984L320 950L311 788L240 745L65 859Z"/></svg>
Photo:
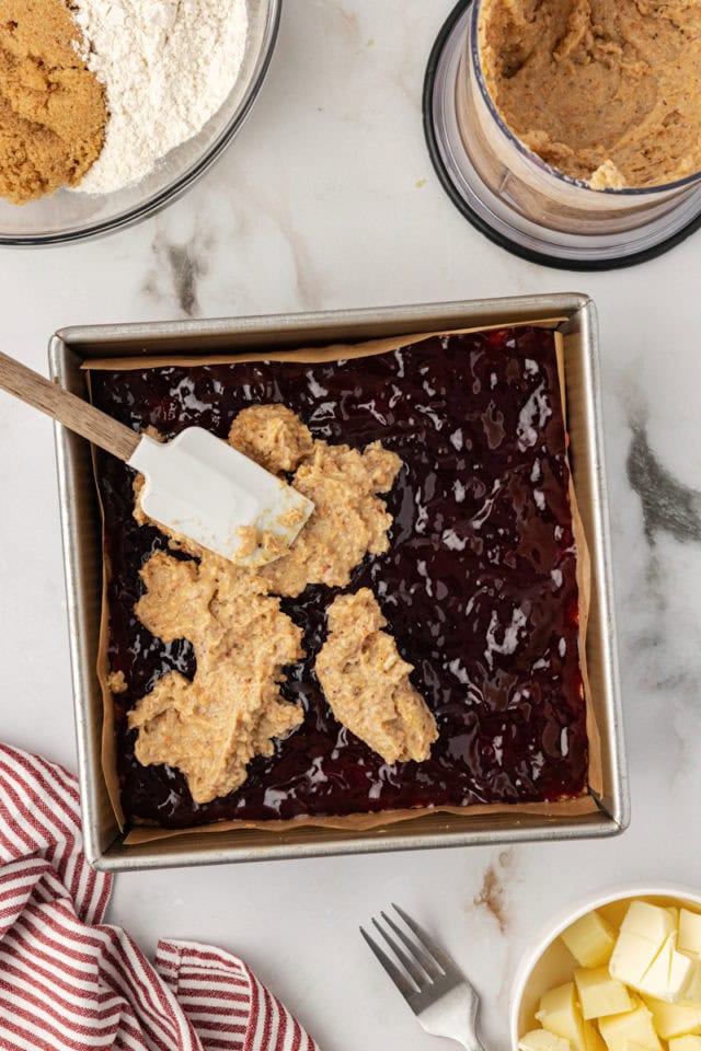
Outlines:
<svg viewBox="0 0 701 1051"><path fill-rule="evenodd" d="M284 666L302 656L301 630L248 576L209 552L199 563L158 552L141 570L137 616L165 643L189 639L197 671L192 682L163 675L129 713L136 757L180 767L195 802L238 788L253 757L272 755L303 719L279 692Z"/></svg>

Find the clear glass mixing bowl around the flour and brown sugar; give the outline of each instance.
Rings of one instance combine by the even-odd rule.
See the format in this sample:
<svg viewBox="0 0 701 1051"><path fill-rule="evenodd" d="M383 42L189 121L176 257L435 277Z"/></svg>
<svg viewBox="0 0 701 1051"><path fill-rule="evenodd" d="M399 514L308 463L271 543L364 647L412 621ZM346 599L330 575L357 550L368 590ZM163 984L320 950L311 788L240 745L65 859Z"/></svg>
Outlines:
<svg viewBox="0 0 701 1051"><path fill-rule="evenodd" d="M219 157L245 119L265 78L281 0L248 0L249 32L237 82L202 131L171 150L139 182L112 194L61 189L11 205L0 198L0 244L60 244L137 222L174 200Z"/></svg>

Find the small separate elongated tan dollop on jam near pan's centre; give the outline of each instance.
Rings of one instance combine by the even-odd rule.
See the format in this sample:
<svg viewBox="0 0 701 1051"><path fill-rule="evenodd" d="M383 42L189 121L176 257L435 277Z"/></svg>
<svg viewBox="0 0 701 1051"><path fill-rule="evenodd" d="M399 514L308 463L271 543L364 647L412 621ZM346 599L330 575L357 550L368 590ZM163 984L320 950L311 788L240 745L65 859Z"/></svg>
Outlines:
<svg viewBox="0 0 701 1051"><path fill-rule="evenodd" d="M369 588L340 594L329 608L317 674L338 721L387 763L422 762L438 737L436 720L386 626Z"/></svg>

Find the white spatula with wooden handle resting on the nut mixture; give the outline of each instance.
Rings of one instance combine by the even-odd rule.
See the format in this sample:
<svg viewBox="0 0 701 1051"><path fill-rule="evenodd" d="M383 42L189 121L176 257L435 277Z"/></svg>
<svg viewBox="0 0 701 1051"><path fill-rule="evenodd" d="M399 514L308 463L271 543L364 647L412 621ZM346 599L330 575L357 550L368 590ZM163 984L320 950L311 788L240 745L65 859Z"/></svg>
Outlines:
<svg viewBox="0 0 701 1051"><path fill-rule="evenodd" d="M2 353L0 390L140 471L149 518L238 564L278 557L314 509L292 486L209 431L188 427L169 442L137 435ZM257 533L250 543L252 527ZM279 543L265 543L265 534Z"/></svg>

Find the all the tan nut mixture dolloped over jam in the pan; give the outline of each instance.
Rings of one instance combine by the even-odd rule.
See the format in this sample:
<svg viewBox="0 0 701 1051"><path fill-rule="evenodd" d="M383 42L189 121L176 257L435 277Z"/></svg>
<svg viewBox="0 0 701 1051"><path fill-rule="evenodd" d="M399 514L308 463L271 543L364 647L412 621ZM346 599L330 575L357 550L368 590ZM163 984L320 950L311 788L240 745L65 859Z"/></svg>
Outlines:
<svg viewBox="0 0 701 1051"><path fill-rule="evenodd" d="M402 466L379 442L361 453L313 440L284 405L243 409L229 441L266 470L292 473L315 510L289 551L266 566L242 568L173 538L174 548L185 546L197 561L157 552L141 570L138 619L164 643L188 639L197 667L192 681L163 675L130 712L136 757L181 770L196 802L238 788L250 761L271 755L274 740L304 718L280 695L284 669L303 656L302 631L273 596L297 596L310 584L346 587L366 554L387 551L392 519L377 494L391 489ZM143 522L139 490L137 480L135 517ZM336 718L388 763L421 761L436 725L383 625L368 589L337 598L319 678Z"/></svg>

